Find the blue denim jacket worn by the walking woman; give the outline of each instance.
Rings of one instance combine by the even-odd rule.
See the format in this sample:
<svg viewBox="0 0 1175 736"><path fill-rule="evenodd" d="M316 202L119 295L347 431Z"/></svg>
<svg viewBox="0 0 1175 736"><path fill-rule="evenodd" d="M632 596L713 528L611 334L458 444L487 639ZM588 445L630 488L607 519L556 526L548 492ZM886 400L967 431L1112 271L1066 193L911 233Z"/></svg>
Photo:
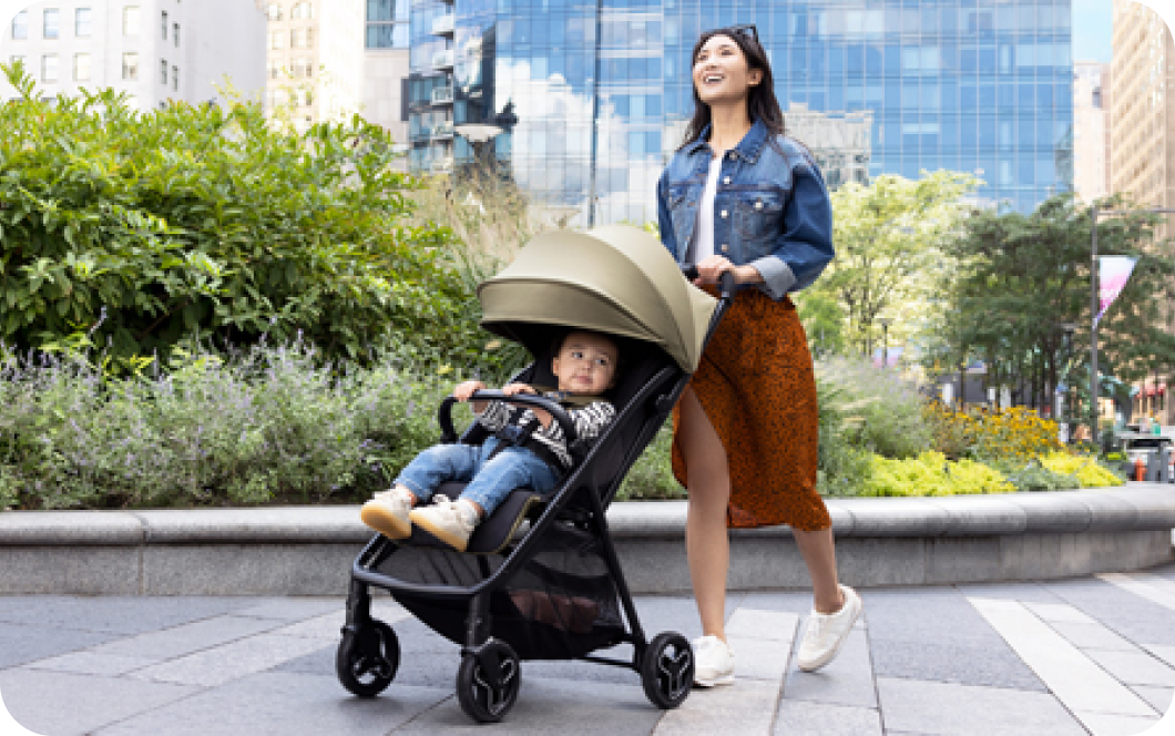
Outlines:
<svg viewBox="0 0 1175 736"><path fill-rule="evenodd" d="M660 237L684 263L696 237L698 205L713 149L701 136L682 148L657 182ZM756 121L726 153L714 196L714 253L751 265L759 288L774 300L812 285L834 252L832 205L812 155L787 136L772 136Z"/></svg>

